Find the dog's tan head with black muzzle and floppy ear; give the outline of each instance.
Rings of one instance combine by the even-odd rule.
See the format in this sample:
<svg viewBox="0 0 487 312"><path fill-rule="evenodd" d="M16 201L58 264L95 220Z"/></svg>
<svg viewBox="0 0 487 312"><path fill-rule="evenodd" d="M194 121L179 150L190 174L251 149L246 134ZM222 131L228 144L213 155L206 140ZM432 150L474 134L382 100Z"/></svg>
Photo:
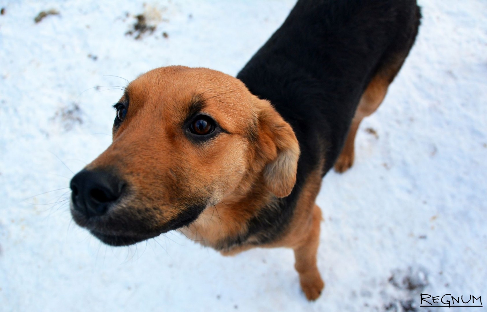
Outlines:
<svg viewBox="0 0 487 312"><path fill-rule="evenodd" d="M132 81L114 105L113 142L71 181L71 213L103 242L128 245L186 226L254 187L296 181L292 128L237 78L171 66Z"/></svg>

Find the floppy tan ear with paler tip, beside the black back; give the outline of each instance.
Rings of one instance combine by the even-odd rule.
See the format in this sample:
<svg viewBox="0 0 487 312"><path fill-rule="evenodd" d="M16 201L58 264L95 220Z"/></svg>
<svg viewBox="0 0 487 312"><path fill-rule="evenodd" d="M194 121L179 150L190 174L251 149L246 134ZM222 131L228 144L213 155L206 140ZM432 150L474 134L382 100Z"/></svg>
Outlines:
<svg viewBox="0 0 487 312"><path fill-rule="evenodd" d="M259 113L259 151L265 162L265 186L277 197L288 196L296 183L300 146L293 129L266 100Z"/></svg>

